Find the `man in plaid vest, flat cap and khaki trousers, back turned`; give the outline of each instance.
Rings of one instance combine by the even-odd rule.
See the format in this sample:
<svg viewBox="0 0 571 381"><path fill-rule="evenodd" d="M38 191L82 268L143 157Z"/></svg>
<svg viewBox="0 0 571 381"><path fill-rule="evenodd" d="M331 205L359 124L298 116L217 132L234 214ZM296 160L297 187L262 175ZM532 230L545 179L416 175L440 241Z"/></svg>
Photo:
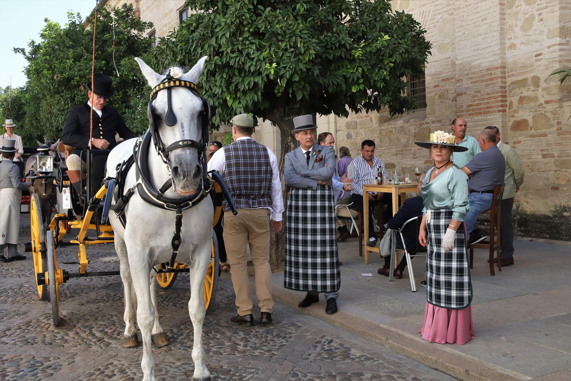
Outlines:
<svg viewBox="0 0 571 381"><path fill-rule="evenodd" d="M238 315L230 321L254 325L252 290L248 279L246 253L250 245L256 276L256 296L260 300L260 323L272 322L272 279L270 269L270 228L282 230L282 184L278 159L266 146L252 139L254 118L240 114L232 118L234 142L214 153L208 170L218 170L230 190L238 215L232 215L224 201L224 244Z"/></svg>

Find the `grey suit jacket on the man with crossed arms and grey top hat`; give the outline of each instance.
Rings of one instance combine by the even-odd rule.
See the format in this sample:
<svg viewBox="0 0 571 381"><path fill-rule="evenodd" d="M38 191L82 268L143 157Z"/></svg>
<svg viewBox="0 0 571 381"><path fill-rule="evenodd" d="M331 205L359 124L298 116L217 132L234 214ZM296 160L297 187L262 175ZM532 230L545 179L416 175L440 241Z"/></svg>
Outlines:
<svg viewBox="0 0 571 381"><path fill-rule="evenodd" d="M320 152L315 153L317 150ZM319 161L315 162L316 160ZM334 172L335 149L327 145L313 144L309 165L301 147L286 154L284 159L284 178L286 185L291 188L317 189L317 181L327 181L327 185L331 186Z"/></svg>

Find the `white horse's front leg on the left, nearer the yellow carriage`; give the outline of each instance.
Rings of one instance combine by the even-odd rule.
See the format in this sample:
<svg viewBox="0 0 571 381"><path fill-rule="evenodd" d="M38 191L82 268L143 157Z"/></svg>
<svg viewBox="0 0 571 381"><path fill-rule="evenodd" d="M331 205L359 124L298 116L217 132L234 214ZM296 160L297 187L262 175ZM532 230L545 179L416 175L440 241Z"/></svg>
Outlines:
<svg viewBox="0 0 571 381"><path fill-rule="evenodd" d="M129 245L130 246L130 245ZM137 297L137 324L143 339L143 381L155 381L155 361L152 359L151 330L155 324L155 307L152 305L151 291L149 288L148 257L150 253L142 247L130 247L129 267L131 268L132 284Z"/></svg>

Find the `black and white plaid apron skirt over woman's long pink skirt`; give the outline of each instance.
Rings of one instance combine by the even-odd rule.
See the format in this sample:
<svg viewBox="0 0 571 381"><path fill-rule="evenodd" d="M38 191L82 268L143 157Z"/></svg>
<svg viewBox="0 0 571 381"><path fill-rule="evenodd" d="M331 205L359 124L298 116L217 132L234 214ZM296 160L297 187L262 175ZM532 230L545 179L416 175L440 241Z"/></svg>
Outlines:
<svg viewBox="0 0 571 381"><path fill-rule="evenodd" d="M456 232L454 248L442 248L451 219L450 209L433 209L427 223L427 301L436 307L462 309L472 303L472 282L463 225Z"/></svg>

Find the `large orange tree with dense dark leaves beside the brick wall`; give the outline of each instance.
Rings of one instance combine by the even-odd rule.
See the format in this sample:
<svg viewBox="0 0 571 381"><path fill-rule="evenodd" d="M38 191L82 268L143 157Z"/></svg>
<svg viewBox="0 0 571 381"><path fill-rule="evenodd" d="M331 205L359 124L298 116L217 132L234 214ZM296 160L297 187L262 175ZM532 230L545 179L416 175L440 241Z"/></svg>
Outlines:
<svg viewBox="0 0 571 381"><path fill-rule="evenodd" d="M190 16L160 39L151 66L190 66L208 55L200 88L215 108L212 126L237 113L271 121L281 136L280 169L294 146L289 118L411 109L407 78L423 73L431 48L412 15L393 11L387 0L187 0L186 6Z"/></svg>

